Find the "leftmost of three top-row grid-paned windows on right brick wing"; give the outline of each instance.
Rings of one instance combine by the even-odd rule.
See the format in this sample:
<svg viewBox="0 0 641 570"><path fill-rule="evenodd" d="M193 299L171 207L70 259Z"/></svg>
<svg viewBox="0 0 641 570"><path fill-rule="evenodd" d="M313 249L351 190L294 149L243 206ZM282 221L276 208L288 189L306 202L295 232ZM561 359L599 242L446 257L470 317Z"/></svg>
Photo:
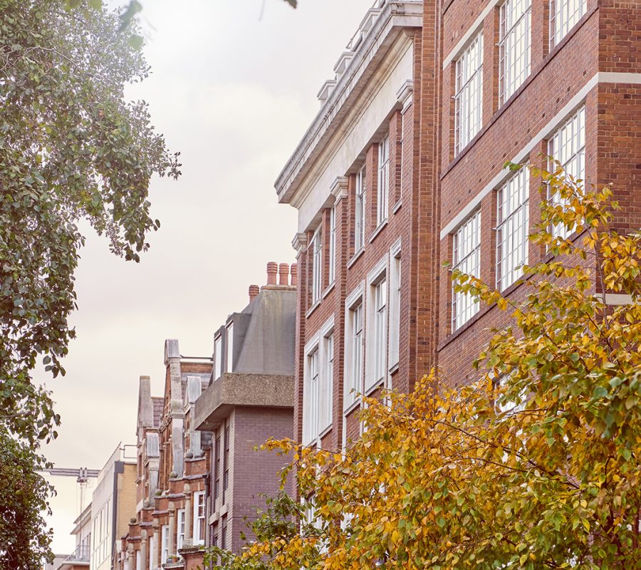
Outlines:
<svg viewBox="0 0 641 570"><path fill-rule="evenodd" d="M483 107L483 31L479 31L457 60L454 95L454 150L458 154L481 130Z"/></svg>

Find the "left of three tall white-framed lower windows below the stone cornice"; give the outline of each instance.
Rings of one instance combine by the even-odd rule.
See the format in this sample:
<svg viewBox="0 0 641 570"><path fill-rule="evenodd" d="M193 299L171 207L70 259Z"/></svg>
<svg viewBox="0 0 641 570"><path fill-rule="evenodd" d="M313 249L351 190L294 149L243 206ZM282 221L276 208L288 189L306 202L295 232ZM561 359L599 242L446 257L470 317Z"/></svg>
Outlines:
<svg viewBox="0 0 641 570"><path fill-rule="evenodd" d="M357 286L345 300L345 381L343 411L358 402L363 392L363 348L365 343L365 284Z"/></svg>

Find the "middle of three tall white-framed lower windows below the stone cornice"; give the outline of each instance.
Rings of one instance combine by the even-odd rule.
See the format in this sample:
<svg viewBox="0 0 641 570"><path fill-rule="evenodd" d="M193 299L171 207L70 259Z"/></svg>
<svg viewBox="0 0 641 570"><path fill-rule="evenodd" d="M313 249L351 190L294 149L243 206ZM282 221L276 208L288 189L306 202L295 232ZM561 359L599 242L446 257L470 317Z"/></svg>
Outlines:
<svg viewBox="0 0 641 570"><path fill-rule="evenodd" d="M365 394L387 377L387 254L368 274Z"/></svg>

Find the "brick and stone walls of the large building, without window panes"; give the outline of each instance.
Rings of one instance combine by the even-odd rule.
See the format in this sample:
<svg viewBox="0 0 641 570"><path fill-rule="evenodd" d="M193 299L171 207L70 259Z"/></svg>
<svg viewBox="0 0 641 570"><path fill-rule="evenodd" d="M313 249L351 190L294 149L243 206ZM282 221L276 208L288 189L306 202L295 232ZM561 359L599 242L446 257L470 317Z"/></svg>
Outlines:
<svg viewBox="0 0 641 570"><path fill-rule="evenodd" d="M420 14L414 18L417 7ZM345 400L350 398L355 351L350 328L350 318L355 317L350 309L358 304L364 306L361 358L365 372L359 379L360 391L375 393L379 385L411 390L432 366L439 367L447 385L476 378L471 362L489 340L490 329L506 326L509 317L496 308L480 309L462 326L454 326L452 284L442 261L452 262L457 230L480 211L479 276L496 284L498 191L510 175L504 163L529 161L545 166L549 140L581 108L585 108L585 178L597 185L613 182L615 199L622 205L613 222L617 229L641 225L637 184L641 6L625 0L586 0L576 21L567 29L559 28L565 33L554 36L553 25L561 24L551 23L550 2L532 0L523 16L529 23L528 73L514 92L501 96L510 65L501 51L507 33L501 27L501 10L508 8L509 3L496 0L375 3L368 12L373 20L364 19L366 25L355 36L360 39L348 47L353 53L347 70L337 73L333 90L321 101L317 118L276 180L279 201L299 213L293 241L300 273L294 426L296 437L305 444L336 450L360 435L360 404L357 400L348 405L350 400ZM402 36L395 35L401 29ZM464 88L457 84L457 61L478 35L483 39L480 127L457 151L456 112L461 103L455 96L458 88ZM400 55L404 49L411 65ZM385 222L377 224L378 146L386 135L390 141L389 213ZM365 244L355 251L357 185L363 168ZM528 182L530 231L540 219L540 185L533 177ZM329 283L330 240L326 238L332 208L335 268ZM315 262L310 244L317 232L323 236L323 293L313 301ZM388 303L384 350L391 363L390 338L397 333L400 354L397 366L386 366L385 377L372 383L368 374L377 353L372 352L371 338L377 328L371 318L370 293L379 279L372 271L382 266L389 301L391 250L399 242L400 318L392 322ZM524 247L530 264L545 254L533 244ZM506 294L520 299L525 289L513 284ZM316 400L310 394L318 381L313 375L314 353L322 351L328 334L333 336L333 373L325 372L325 378L333 385L331 398L325 395L332 405L331 422L325 425L316 419L318 411L311 404ZM322 366L321 362L321 385ZM318 404L320 410L323 405Z"/></svg>

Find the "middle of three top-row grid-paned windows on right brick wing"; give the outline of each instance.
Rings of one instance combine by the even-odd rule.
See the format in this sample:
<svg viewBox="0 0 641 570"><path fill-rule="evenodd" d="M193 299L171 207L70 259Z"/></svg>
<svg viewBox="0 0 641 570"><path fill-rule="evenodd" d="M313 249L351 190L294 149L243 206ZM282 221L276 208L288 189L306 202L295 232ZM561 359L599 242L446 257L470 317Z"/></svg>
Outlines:
<svg viewBox="0 0 641 570"><path fill-rule="evenodd" d="M530 74L531 9L532 0L506 0L501 6L501 103L505 103Z"/></svg>

